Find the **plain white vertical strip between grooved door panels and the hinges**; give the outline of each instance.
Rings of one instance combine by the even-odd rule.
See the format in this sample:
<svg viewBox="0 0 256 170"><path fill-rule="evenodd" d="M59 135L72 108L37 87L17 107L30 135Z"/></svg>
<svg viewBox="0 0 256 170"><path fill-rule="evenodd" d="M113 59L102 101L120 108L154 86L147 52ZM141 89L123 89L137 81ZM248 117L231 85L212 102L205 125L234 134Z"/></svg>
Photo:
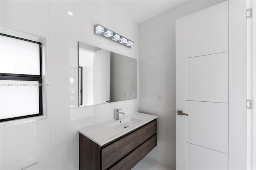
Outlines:
<svg viewBox="0 0 256 170"><path fill-rule="evenodd" d="M246 169L247 154L246 1L229 1L228 169Z"/></svg>

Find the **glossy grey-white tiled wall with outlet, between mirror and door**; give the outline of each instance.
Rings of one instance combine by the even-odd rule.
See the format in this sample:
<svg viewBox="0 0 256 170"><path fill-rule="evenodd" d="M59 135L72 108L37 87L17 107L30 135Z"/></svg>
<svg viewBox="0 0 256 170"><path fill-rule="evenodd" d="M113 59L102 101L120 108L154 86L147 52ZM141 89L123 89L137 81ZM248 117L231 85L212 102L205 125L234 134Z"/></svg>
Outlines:
<svg viewBox="0 0 256 170"><path fill-rule="evenodd" d="M175 169L175 20L222 1L187 1L139 25L140 112L158 115L148 156ZM157 34L156 34L157 33ZM161 94L161 101L156 101Z"/></svg>

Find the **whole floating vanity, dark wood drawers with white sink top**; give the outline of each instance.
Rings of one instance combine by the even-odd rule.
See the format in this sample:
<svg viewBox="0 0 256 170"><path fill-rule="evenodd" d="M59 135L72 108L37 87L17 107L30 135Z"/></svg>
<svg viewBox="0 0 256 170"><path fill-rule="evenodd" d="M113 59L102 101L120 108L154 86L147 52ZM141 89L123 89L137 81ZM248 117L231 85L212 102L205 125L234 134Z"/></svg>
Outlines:
<svg viewBox="0 0 256 170"><path fill-rule="evenodd" d="M78 130L79 169L132 169L157 144L156 118L136 112Z"/></svg>

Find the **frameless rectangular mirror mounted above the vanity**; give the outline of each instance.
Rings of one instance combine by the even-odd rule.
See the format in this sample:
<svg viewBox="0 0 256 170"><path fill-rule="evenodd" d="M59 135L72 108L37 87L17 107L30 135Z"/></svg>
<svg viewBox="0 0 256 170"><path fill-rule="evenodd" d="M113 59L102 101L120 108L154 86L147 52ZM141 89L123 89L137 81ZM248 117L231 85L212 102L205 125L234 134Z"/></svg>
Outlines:
<svg viewBox="0 0 256 170"><path fill-rule="evenodd" d="M78 42L79 107L137 99L137 60Z"/></svg>

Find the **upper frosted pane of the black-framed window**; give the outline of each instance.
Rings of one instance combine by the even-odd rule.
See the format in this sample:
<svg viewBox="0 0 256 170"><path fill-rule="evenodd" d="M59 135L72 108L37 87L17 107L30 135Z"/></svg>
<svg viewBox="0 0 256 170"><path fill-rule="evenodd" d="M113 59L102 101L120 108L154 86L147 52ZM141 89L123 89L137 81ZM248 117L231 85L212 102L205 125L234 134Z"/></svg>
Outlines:
<svg viewBox="0 0 256 170"><path fill-rule="evenodd" d="M40 75L39 44L0 36L0 73Z"/></svg>

